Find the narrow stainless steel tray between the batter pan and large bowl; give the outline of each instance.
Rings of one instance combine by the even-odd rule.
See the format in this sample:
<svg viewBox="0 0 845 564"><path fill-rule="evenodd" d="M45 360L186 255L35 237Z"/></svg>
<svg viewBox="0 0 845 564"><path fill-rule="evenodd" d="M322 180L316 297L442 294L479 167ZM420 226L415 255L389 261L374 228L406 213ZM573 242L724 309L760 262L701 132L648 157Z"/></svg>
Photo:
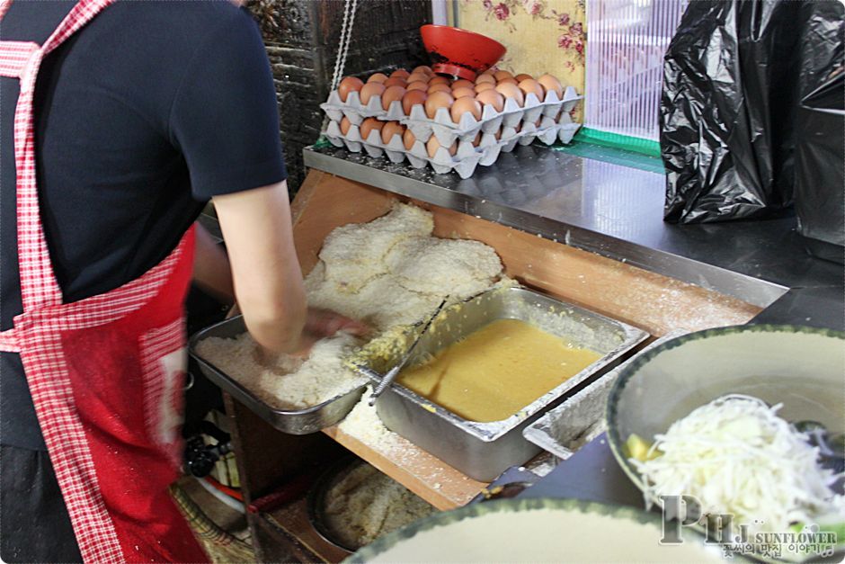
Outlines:
<svg viewBox="0 0 845 564"><path fill-rule="evenodd" d="M526 426L522 431L522 436L544 451L551 452L558 459L566 460L584 444L607 430L604 420L605 405L610 389L622 369L640 354L683 334L683 331L672 331L655 340L627 361L603 374L571 398L565 398L562 404Z"/></svg>

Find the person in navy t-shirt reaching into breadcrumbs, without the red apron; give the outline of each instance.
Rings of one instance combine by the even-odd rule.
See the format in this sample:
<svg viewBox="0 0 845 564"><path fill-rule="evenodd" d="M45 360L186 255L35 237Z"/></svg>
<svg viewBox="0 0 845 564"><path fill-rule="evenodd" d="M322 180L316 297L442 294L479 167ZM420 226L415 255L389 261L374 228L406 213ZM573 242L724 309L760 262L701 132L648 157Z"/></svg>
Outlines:
<svg viewBox="0 0 845 564"><path fill-rule="evenodd" d="M42 43L74 4L17 0L0 39ZM0 79L2 330L22 309L11 127L18 92L17 80ZM116 2L44 59L35 116L40 208L66 302L147 272L213 200L228 255L200 231L194 282L236 297L265 351L298 350L303 330L364 330L307 309L275 90L244 9L227 0ZM0 556L79 560L19 355L0 354L0 371Z"/></svg>

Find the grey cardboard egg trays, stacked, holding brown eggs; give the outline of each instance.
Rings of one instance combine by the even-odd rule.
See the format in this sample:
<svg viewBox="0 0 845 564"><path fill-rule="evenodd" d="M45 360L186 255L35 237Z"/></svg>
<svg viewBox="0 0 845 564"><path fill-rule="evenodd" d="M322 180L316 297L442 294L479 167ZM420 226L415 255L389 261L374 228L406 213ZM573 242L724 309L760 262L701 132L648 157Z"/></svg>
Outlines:
<svg viewBox="0 0 845 564"><path fill-rule="evenodd" d="M502 112L496 112L492 106L485 105L480 121L470 113L465 113L458 123L452 121L447 108L438 109L432 120L426 115L422 104L414 105L410 114L406 115L401 100L391 103L385 111L380 95L372 96L369 103L363 105L357 92L351 92L346 103L343 103L340 95L334 90L329 94L328 101L320 104L320 107L330 120L324 132L325 137L335 147L345 146L353 153L364 150L370 157L387 155L392 163L401 163L407 159L414 168L431 165L438 174L454 170L461 178L469 178L475 172L476 166L494 164L501 152L510 152L518 143L529 145L534 139L539 139L547 145L551 145L556 139L565 144L572 141L581 124L572 121L570 112L582 98L572 86L565 89L563 100L560 100L554 91L548 92L543 101L538 100L535 94L528 94L522 107L508 98ZM556 120L558 114L559 118ZM351 123L346 135L343 135L340 129L340 121L344 116ZM384 143L381 131L378 130L370 131L367 139L362 139L359 126L366 118L399 121L414 134L414 145L405 149L403 140L398 135ZM502 135L500 139L496 139L494 134L500 128ZM479 132L481 139L478 146L474 147L472 141ZM429 157L425 143L432 135L442 147L437 149L433 157ZM454 156L449 155L447 148L456 140L457 152Z"/></svg>

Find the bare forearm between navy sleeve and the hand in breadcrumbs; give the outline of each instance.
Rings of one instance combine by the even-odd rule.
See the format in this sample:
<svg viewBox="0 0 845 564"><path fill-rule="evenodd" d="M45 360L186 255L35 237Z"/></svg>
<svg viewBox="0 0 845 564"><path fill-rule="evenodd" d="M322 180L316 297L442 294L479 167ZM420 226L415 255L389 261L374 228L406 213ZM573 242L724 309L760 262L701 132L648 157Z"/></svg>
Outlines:
<svg viewBox="0 0 845 564"><path fill-rule="evenodd" d="M307 318L287 183L214 198L247 329L273 353L297 351Z"/></svg>

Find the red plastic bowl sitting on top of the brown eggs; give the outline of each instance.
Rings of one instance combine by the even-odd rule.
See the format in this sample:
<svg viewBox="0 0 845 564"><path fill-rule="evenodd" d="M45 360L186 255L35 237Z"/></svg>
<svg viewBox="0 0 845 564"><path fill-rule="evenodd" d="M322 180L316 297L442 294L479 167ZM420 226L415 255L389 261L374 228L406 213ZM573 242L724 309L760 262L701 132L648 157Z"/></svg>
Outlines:
<svg viewBox="0 0 845 564"><path fill-rule="evenodd" d="M475 80L493 67L505 51L504 45L480 33L448 25L423 25L425 50L431 55L431 70L444 75Z"/></svg>

